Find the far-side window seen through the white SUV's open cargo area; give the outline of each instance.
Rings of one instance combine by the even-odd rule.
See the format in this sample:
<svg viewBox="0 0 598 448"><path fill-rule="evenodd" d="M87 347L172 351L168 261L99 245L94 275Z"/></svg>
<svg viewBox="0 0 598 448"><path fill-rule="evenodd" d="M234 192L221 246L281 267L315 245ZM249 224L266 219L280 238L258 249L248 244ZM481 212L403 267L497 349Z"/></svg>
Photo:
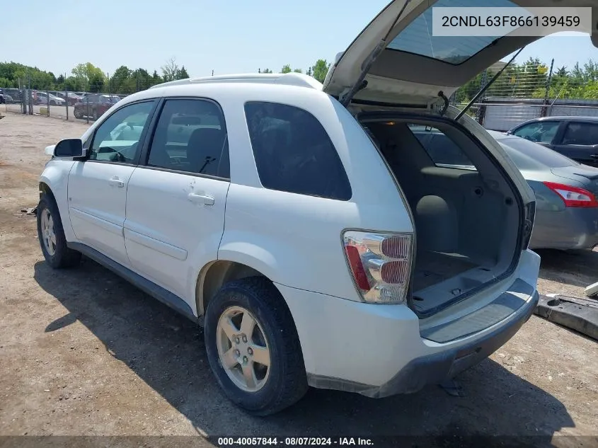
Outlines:
<svg viewBox="0 0 598 448"><path fill-rule="evenodd" d="M409 129L435 165L475 168L463 150L442 131L435 127L420 125L409 125Z"/></svg>

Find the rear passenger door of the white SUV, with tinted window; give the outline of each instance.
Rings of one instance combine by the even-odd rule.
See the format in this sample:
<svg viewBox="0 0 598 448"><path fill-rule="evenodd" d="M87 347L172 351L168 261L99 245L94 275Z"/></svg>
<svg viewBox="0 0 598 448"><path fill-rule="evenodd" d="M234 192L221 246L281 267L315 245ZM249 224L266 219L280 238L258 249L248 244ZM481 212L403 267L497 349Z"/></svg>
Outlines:
<svg viewBox="0 0 598 448"><path fill-rule="evenodd" d="M200 268L217 260L229 190L224 114L213 100L163 102L142 166L127 188L132 268L195 309Z"/></svg>

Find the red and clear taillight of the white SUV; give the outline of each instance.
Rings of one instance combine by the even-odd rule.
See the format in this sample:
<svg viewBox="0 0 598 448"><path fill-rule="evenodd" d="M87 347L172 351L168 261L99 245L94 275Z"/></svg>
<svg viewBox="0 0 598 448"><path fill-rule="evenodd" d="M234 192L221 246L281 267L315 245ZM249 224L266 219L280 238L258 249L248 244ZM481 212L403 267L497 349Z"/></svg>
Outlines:
<svg viewBox="0 0 598 448"><path fill-rule="evenodd" d="M412 234L345 231L347 264L364 301L380 304L406 301L413 260L412 239Z"/></svg>

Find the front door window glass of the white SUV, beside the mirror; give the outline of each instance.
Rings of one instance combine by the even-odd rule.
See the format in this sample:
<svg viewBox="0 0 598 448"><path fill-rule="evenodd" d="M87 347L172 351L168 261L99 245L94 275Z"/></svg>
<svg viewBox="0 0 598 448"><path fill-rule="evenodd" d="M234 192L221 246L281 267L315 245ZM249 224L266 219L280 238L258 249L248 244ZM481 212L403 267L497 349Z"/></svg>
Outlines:
<svg viewBox="0 0 598 448"><path fill-rule="evenodd" d="M134 163L153 107L154 101L134 103L110 115L96 130L88 159Z"/></svg>

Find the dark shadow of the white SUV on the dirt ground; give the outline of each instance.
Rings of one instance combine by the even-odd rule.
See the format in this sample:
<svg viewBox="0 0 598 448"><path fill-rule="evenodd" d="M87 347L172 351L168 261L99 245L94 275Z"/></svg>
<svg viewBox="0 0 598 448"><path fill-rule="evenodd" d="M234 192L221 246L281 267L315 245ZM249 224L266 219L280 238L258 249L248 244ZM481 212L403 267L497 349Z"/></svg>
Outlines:
<svg viewBox="0 0 598 448"><path fill-rule="evenodd" d="M464 397L449 396L436 386L381 400L311 389L296 406L253 418L219 390L202 330L191 321L91 260L68 271L36 263L35 280L69 310L48 322L47 332L81 321L208 435L553 435L574 426L557 398L491 360L461 374Z"/></svg>

